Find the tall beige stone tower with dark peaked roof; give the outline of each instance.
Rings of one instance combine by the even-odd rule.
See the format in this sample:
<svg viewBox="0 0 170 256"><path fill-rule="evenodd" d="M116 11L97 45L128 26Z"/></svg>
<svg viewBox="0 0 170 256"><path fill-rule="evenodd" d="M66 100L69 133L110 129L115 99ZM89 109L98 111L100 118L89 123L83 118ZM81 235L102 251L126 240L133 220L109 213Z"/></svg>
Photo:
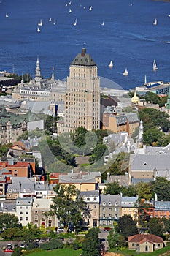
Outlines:
<svg viewBox="0 0 170 256"><path fill-rule="evenodd" d="M85 127L100 129L100 79L98 68L82 48L69 68L63 131Z"/></svg>

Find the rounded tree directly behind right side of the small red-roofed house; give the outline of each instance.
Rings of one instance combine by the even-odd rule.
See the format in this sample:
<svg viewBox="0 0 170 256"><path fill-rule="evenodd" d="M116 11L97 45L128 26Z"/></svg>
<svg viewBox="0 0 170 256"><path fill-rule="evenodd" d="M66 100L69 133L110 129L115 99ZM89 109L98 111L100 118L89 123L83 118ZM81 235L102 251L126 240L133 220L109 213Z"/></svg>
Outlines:
<svg viewBox="0 0 170 256"><path fill-rule="evenodd" d="M148 222L148 231L150 234L163 236L164 228L162 220L159 218L150 219L150 222Z"/></svg>

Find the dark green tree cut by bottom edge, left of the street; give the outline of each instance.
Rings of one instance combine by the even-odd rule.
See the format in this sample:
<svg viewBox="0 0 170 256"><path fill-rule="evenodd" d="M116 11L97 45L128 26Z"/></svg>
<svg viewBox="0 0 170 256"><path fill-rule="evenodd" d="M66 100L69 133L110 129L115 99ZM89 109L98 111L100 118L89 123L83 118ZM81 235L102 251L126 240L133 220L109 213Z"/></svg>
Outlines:
<svg viewBox="0 0 170 256"><path fill-rule="evenodd" d="M92 228L85 235L82 242L82 256L99 256L100 255L100 239L98 238L99 230Z"/></svg>

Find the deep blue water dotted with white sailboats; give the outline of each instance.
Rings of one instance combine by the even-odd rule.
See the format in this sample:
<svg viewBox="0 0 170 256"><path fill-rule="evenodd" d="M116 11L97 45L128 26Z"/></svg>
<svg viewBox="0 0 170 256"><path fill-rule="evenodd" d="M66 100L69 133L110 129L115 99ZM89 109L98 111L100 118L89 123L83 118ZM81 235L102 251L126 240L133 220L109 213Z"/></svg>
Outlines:
<svg viewBox="0 0 170 256"><path fill-rule="evenodd" d="M98 75L123 89L142 86L144 74L147 81L170 80L170 2L72 0L67 7L66 3L69 0L0 0L0 70L34 77L39 56L44 78L51 76L54 66L55 78L63 79L85 46L98 65ZM43 26L37 33L41 18ZM77 26L73 26L75 18ZM155 18L157 26L152 25ZM153 59L157 72L152 71ZM112 69L108 67L110 60ZM123 76L125 67L128 77Z"/></svg>

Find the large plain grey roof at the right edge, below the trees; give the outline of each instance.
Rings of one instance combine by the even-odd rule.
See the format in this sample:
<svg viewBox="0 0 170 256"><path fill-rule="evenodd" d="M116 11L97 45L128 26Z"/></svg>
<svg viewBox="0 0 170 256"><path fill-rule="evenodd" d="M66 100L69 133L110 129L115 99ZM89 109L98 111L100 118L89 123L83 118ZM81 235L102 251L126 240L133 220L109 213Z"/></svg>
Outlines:
<svg viewBox="0 0 170 256"><path fill-rule="evenodd" d="M131 170L169 170L169 154L131 154Z"/></svg>

